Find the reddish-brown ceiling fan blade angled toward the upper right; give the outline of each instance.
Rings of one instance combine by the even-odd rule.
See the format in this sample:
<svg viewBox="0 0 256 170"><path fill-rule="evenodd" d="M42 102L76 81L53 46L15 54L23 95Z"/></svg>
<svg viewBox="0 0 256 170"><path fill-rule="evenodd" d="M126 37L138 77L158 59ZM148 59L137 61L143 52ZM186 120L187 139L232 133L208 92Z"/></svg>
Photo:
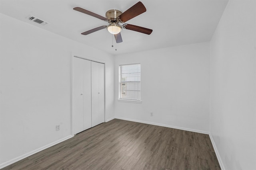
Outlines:
<svg viewBox="0 0 256 170"><path fill-rule="evenodd" d="M124 13L122 13L119 16L119 19L122 22L126 22L140 14L142 14L143 12L146 12L146 8L145 6L142 4L142 2L138 2L137 4L135 4L134 6L132 6L131 8L129 8L128 10L126 10Z"/></svg>

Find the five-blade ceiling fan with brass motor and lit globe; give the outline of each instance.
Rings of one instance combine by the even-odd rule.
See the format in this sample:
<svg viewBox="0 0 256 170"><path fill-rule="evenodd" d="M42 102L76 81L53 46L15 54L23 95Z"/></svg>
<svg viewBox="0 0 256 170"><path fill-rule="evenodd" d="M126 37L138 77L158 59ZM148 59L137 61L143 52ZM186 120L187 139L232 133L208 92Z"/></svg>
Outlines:
<svg viewBox="0 0 256 170"><path fill-rule="evenodd" d="M95 14L93 12L90 12L88 10L85 10L83 8L80 7L76 7L73 8L74 10L78 11L78 12L82 12L84 14L96 17L100 20L106 21L109 23L109 25L103 25L100 27L96 27L94 29L91 29L89 31L85 31L83 33L81 33L82 35L88 35L90 33L93 33L95 31L99 31L101 29L106 28L110 33L114 34L114 37L116 39L116 43L122 43L122 36L121 36L121 31L122 28L124 29L130 29L132 31L138 31L140 33L145 33L150 35L152 33L152 29L148 29L148 28L144 28L144 27L139 27L136 25L131 25L131 24L127 24L124 23L144 12L146 12L146 8L145 6L142 4L142 2L138 2L137 4L135 4L134 6L132 6L131 8L129 8L128 10L126 10L124 13L122 13L119 10L108 10L106 12L106 18L103 16L100 16L98 14Z"/></svg>

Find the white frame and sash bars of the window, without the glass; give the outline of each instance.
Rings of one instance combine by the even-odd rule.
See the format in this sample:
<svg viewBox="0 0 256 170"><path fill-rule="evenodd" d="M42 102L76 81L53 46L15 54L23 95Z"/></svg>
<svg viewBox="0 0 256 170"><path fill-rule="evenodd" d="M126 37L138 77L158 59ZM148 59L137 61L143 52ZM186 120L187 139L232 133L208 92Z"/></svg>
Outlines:
<svg viewBox="0 0 256 170"><path fill-rule="evenodd" d="M122 93L122 88L121 88L121 83L122 82L126 82L126 81L121 81L121 76L122 76L122 70L121 70L121 67L122 66L127 66L127 65L136 65L136 64L140 64L140 63L133 63L133 64L121 64L121 65L119 65L119 68L118 68L118 70L119 70L119 74L118 74L118 79L119 79L119 81L118 81L118 100L119 101L121 101L121 102L135 102L135 103L140 103L140 102L142 102L141 101L141 93L140 93L140 99L127 99L127 98L121 98L121 93ZM140 64L140 66L141 66L141 64ZM141 70L140 70L141 71ZM131 82L131 81L128 81L128 82ZM132 82L140 82L141 83L141 81L132 81ZM139 90L140 92L141 92L141 89Z"/></svg>

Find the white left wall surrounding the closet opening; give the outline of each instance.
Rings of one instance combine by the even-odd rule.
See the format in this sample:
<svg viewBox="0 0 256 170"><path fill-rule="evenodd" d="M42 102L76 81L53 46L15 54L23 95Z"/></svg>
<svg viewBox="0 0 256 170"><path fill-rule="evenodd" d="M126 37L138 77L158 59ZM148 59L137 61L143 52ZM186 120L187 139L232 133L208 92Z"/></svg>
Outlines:
<svg viewBox="0 0 256 170"><path fill-rule="evenodd" d="M71 55L105 61L106 119L114 117L114 57L3 14L0 166L71 134ZM60 131L55 126L60 124Z"/></svg>

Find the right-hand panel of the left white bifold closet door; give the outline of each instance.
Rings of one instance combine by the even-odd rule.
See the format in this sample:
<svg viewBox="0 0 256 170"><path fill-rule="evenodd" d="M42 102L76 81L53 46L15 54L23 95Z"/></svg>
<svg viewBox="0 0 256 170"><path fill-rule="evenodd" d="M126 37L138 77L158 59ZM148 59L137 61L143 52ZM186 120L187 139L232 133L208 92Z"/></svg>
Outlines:
<svg viewBox="0 0 256 170"><path fill-rule="evenodd" d="M91 96L91 61L81 59L83 62L83 108L84 130L92 127L92 96Z"/></svg>

